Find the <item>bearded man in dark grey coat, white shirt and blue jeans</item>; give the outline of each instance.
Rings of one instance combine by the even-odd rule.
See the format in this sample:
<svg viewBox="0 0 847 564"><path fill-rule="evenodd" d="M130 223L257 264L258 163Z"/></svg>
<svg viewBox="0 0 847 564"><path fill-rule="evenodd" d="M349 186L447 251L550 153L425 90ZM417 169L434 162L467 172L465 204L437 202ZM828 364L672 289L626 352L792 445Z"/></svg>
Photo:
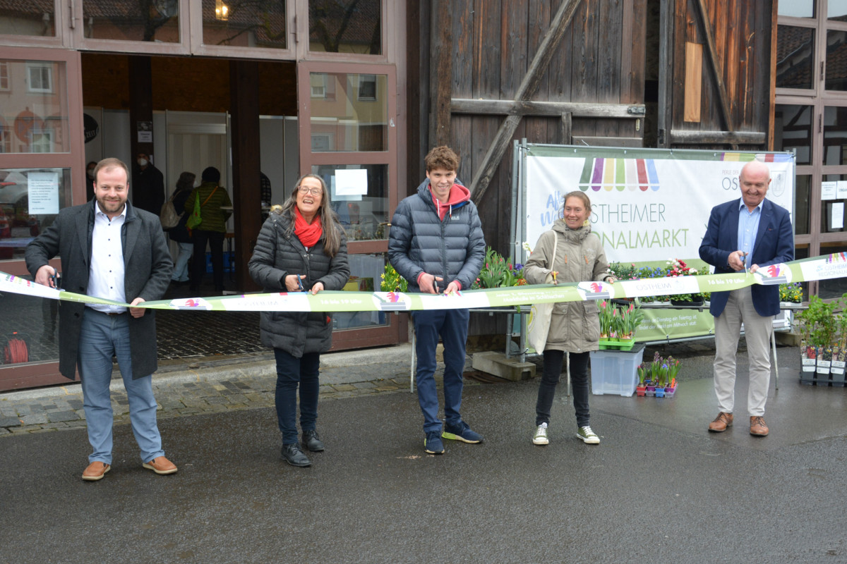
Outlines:
<svg viewBox="0 0 847 564"><path fill-rule="evenodd" d="M49 260L61 257L61 284L69 292L131 305L161 299L173 262L158 217L127 202L129 171L108 158L94 170L94 199L64 208L26 247L26 267L36 282L58 287ZM112 464L112 357L118 359L130 401L130 421L141 463L156 474L174 474L156 424L152 373L157 369L152 310L110 304L63 302L59 308L59 371L75 380L80 370L88 441L93 452L82 479L98 480Z"/></svg>

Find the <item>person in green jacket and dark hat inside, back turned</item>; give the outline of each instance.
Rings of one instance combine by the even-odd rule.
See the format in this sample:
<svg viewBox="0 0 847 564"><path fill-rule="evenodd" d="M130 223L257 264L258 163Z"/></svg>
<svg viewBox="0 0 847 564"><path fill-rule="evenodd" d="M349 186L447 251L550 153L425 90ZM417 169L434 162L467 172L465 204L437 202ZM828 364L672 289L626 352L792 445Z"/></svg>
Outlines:
<svg viewBox="0 0 847 564"><path fill-rule="evenodd" d="M191 291L200 290L203 275L206 273L206 245L212 255L212 278L216 293L224 292L224 238L226 220L232 215L230 194L220 185L220 171L215 167L206 167L200 175L202 183L191 190L185 200L185 211L194 211L195 201L199 198L200 219L197 227L191 230L194 244L194 260L191 261ZM224 209L227 208L227 209Z"/></svg>

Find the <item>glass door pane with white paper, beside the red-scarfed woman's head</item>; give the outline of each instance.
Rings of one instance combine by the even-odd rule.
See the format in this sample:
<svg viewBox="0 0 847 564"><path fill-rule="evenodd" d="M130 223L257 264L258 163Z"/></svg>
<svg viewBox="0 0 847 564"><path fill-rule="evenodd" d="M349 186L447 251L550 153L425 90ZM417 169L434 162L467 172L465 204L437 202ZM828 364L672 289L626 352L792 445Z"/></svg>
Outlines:
<svg viewBox="0 0 847 564"><path fill-rule="evenodd" d="M313 165L350 241L388 238L388 165Z"/></svg>

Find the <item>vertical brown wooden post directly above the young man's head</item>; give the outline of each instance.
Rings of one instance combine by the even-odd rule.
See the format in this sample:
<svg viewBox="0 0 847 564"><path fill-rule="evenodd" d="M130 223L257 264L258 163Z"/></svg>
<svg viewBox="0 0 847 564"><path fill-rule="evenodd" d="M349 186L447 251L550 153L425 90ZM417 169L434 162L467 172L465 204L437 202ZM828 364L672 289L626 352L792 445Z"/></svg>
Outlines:
<svg viewBox="0 0 847 564"><path fill-rule="evenodd" d="M453 34L442 20L449 0L433 0L429 19L429 148L450 145L450 97L453 79Z"/></svg>

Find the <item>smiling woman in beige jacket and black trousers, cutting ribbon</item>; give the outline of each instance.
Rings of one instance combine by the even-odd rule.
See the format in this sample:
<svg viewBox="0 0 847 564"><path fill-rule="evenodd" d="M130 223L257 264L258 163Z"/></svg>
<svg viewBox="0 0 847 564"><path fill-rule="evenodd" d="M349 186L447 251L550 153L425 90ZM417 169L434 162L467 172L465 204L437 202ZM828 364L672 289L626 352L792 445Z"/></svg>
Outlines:
<svg viewBox="0 0 847 564"><path fill-rule="evenodd" d="M550 284L617 280L609 271L600 238L591 233L588 222L590 215L591 200L584 192L565 194L562 219L557 219L550 231L541 234L523 268L527 282ZM552 256L554 244L555 257ZM577 436L590 445L600 443L600 438L591 430L588 408L589 353L598 349L599 339L600 319L595 301L560 302L553 307L550 332L544 348L538 402L535 404L537 429L533 436L534 444L546 445L550 442L547 439L547 425L550 423L550 410L566 352L569 353L573 381Z"/></svg>

